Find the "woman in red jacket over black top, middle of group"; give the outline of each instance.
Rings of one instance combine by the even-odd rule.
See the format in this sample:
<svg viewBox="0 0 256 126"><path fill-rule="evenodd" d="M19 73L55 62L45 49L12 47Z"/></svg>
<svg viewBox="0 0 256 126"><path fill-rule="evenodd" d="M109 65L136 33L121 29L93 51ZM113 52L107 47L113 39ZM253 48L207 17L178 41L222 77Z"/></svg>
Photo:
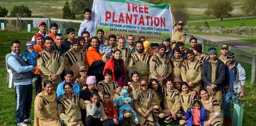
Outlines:
<svg viewBox="0 0 256 126"><path fill-rule="evenodd" d="M105 69L111 69L113 76L112 80L117 81L118 85L123 87L123 80L127 76L127 71L121 53L122 52L119 49L114 50L114 57L107 60L103 73L105 72Z"/></svg>

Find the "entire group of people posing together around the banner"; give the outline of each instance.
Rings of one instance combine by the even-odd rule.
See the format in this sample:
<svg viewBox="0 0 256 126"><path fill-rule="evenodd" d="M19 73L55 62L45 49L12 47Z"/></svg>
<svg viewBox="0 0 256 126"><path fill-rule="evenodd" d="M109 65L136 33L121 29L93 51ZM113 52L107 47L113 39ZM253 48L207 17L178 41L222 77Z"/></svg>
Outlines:
<svg viewBox="0 0 256 126"><path fill-rule="evenodd" d="M162 44L141 37L93 36L91 10L85 9L78 38L75 29L67 39L52 23L45 22L26 43L11 42L8 65L13 73L15 116L18 126L123 125L219 126L232 122L230 102L243 97L246 73L234 60L228 45L217 57L208 55L197 39L184 50L183 22L173 20L173 40ZM116 46L117 45L117 46ZM35 117L30 118L32 82L35 86ZM224 112L222 112L224 110Z"/></svg>

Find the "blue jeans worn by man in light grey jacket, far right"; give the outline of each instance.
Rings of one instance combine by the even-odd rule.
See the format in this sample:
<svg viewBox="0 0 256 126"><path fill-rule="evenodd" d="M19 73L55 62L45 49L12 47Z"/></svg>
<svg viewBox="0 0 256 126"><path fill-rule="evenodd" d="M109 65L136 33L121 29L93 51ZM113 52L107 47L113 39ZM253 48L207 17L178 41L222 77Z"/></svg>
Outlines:
<svg viewBox="0 0 256 126"><path fill-rule="evenodd" d="M231 113L230 113L230 102L233 100L233 103L240 103L239 100L234 100L237 98L239 95L234 94L233 91L225 91L225 96L223 96L223 109L225 112L225 117L228 119L232 119Z"/></svg>

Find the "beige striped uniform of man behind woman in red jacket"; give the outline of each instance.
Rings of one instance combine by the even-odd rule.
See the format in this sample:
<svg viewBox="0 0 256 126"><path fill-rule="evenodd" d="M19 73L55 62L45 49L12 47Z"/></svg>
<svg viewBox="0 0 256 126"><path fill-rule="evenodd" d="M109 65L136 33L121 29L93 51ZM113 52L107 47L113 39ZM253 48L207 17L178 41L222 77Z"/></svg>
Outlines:
<svg viewBox="0 0 256 126"><path fill-rule="evenodd" d="M129 48L124 48L124 49L121 49L119 48L118 46L113 48L112 51L111 51L111 57L114 57L114 51L115 49L119 49L121 50L121 55L122 55L122 59L124 60L124 65L126 68L128 68L128 63L129 63L129 58L130 58L130 55L132 54L131 50Z"/></svg>

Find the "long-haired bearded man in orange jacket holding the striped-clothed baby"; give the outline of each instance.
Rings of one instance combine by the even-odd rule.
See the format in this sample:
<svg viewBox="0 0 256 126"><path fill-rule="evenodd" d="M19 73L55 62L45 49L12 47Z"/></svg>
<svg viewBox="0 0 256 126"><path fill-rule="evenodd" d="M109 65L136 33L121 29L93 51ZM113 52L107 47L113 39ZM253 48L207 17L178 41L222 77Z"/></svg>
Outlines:
<svg viewBox="0 0 256 126"><path fill-rule="evenodd" d="M102 59L102 55L98 53L98 43L99 39L97 37L92 37L90 39L90 48L86 52L87 62L89 64L88 75L95 76L97 82L103 80L102 72L107 61L106 58Z"/></svg>

